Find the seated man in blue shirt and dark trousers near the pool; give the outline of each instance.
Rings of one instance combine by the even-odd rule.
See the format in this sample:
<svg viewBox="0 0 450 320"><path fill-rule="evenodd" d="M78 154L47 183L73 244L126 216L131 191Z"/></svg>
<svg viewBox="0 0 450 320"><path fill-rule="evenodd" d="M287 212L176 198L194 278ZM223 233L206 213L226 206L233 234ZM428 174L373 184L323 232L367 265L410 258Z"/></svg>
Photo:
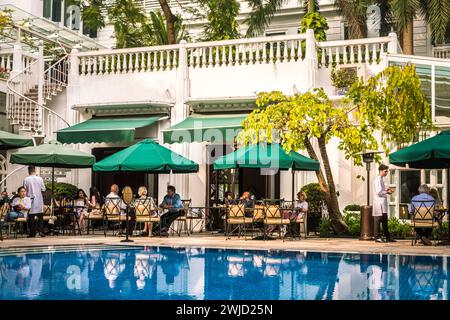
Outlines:
<svg viewBox="0 0 450 320"><path fill-rule="evenodd" d="M167 210L161 216L161 223L153 228L153 235L157 236L161 228L161 235L168 236L168 231L172 222L183 215L183 203L174 186L167 186L167 194L159 205L160 208Z"/></svg>

